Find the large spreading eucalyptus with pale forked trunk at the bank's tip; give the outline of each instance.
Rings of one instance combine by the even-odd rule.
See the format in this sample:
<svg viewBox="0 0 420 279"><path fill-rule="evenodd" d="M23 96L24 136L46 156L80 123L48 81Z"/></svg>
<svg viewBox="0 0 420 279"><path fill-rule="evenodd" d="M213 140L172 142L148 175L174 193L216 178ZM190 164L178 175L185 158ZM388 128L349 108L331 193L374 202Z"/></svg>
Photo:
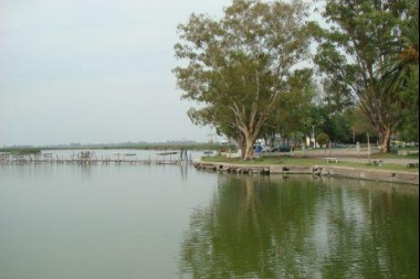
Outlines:
<svg viewBox="0 0 420 279"><path fill-rule="evenodd" d="M195 124L231 129L243 138L243 157L272 117L294 67L307 57L307 4L301 0L233 0L224 17L191 14L178 26L174 69L181 98L195 100Z"/></svg>

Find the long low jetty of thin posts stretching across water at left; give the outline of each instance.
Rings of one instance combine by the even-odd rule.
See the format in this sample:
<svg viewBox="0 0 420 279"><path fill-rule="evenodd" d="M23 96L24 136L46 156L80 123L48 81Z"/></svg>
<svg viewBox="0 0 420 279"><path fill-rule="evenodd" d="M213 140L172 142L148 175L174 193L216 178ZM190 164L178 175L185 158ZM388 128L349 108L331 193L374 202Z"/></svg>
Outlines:
<svg viewBox="0 0 420 279"><path fill-rule="evenodd" d="M177 157L178 154L178 157ZM0 165L2 164L191 164L192 160L187 151L161 152L156 159L137 159L135 153L114 153L113 155L96 155L95 151L81 151L67 157L40 153L40 154L11 154L0 152Z"/></svg>

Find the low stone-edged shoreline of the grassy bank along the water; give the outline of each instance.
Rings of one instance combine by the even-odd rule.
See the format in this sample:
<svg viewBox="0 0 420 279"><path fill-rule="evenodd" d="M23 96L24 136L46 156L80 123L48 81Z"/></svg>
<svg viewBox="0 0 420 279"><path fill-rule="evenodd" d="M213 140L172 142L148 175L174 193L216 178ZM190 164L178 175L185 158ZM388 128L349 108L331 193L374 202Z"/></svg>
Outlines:
<svg viewBox="0 0 420 279"><path fill-rule="evenodd" d="M322 176L348 178L358 180L381 181L401 184L419 185L418 172L405 172L392 170L368 170L363 168L339 167L329 164L317 165L244 165L225 162L203 162L195 161L192 165L199 170L208 170L214 172L230 172L244 174L311 174Z"/></svg>

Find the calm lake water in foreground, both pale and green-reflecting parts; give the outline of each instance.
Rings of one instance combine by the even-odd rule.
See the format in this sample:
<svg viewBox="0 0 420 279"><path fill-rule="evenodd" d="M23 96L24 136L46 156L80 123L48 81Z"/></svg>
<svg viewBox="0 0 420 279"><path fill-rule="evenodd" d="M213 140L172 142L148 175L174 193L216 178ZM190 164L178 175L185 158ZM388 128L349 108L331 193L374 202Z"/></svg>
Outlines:
<svg viewBox="0 0 420 279"><path fill-rule="evenodd" d="M0 165L0 279L418 278L419 187Z"/></svg>

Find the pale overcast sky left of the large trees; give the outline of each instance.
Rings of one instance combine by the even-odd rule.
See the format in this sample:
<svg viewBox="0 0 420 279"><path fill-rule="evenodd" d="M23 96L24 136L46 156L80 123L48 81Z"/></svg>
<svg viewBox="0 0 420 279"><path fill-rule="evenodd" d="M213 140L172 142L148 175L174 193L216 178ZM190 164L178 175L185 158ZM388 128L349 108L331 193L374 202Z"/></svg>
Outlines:
<svg viewBox="0 0 420 279"><path fill-rule="evenodd" d="M171 69L177 25L230 0L0 0L0 147L208 141Z"/></svg>

